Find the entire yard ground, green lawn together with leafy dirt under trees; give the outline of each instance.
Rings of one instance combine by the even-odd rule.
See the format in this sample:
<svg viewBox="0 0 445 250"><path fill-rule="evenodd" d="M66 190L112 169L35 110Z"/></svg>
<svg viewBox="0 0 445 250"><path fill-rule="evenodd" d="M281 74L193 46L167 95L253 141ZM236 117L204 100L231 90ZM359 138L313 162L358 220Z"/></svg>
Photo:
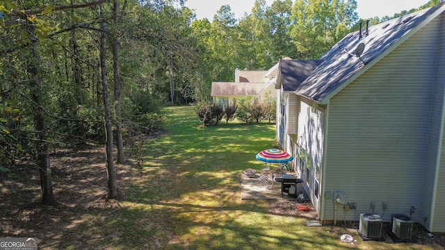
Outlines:
<svg viewBox="0 0 445 250"><path fill-rule="evenodd" d="M308 227L306 217L273 213L275 201L241 200L241 173L264 166L255 154L275 146L275 125L203 128L191 106L163 111L168 132L145 142L142 176L117 166L117 201L104 198L103 149L52 158L59 206L40 206L35 169L24 165L15 179L0 178L0 237L37 237L40 249L73 250L443 249L362 241L343 223ZM341 242L343 233L357 242Z"/></svg>

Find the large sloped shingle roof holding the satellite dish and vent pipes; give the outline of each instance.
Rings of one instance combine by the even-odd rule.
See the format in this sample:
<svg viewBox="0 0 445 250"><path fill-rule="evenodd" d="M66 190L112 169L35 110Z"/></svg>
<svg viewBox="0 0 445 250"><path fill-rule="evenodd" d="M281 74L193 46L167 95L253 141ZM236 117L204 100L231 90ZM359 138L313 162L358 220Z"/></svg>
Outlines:
<svg viewBox="0 0 445 250"><path fill-rule="evenodd" d="M296 94L319 103L328 103L355 78L444 11L445 3L439 3L432 8L371 26L368 32L365 27L362 31L346 35L318 58L322 63L298 85ZM355 56L355 51L361 43L364 44L364 51L359 58Z"/></svg>

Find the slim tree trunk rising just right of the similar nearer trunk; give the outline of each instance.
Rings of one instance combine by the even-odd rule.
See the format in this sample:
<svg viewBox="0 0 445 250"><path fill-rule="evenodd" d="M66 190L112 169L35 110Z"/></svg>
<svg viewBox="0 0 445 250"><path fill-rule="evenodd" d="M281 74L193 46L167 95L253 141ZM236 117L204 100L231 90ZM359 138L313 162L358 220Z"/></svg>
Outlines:
<svg viewBox="0 0 445 250"><path fill-rule="evenodd" d="M115 27L118 27L118 22L120 20L119 14L119 0L114 1L114 17L115 17ZM114 101L115 101L115 126L116 126L116 147L118 148L118 163L125 163L124 154L124 138L122 136L122 114L120 110L120 99L121 99L121 81L120 81L120 31L116 32L115 38L111 42L111 47L113 48L113 74L114 74Z"/></svg>

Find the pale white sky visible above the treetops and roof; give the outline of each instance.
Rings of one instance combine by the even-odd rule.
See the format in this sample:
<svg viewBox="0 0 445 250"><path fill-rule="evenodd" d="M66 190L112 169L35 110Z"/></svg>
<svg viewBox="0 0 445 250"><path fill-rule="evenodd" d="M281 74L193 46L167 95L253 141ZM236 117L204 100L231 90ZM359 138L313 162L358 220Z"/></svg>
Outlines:
<svg viewBox="0 0 445 250"><path fill-rule="evenodd" d="M186 6L195 10L196 18L207 18L213 21L216 11L223 5L229 5L236 19L241 19L244 12L250 13L255 0L187 0ZM266 0L267 6L272 5L274 0ZM359 17L366 19L369 17L393 16L402 10L418 8L428 0L356 0Z"/></svg>

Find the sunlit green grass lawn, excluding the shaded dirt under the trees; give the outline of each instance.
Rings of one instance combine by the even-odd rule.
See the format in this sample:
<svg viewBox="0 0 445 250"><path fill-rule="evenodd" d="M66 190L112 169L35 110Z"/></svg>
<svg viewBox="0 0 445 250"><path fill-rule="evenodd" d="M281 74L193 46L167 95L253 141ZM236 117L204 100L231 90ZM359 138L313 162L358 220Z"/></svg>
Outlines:
<svg viewBox="0 0 445 250"><path fill-rule="evenodd" d="M191 106L163 111L168 133L145 142L143 178L122 187L120 207L83 218L83 233L108 235L90 236L92 249L432 249L364 242L341 225L273 215L273 201L241 200L241 173L263 167L254 156L275 146L275 124L202 128Z"/></svg>

